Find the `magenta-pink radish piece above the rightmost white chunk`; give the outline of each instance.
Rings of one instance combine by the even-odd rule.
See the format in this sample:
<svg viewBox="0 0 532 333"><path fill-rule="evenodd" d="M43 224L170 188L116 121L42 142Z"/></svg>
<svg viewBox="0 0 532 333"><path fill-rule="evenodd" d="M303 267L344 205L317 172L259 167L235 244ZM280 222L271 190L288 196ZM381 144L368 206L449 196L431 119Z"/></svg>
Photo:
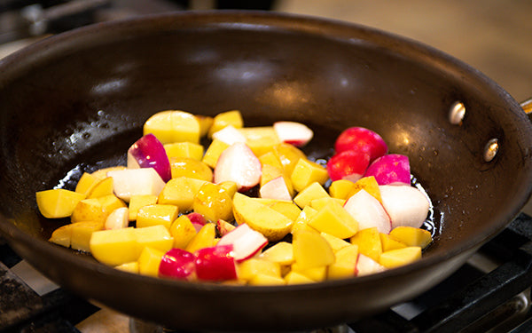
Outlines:
<svg viewBox="0 0 532 333"><path fill-rule="evenodd" d="M411 169L408 156L384 155L373 161L364 177L374 176L379 185L410 185Z"/></svg>

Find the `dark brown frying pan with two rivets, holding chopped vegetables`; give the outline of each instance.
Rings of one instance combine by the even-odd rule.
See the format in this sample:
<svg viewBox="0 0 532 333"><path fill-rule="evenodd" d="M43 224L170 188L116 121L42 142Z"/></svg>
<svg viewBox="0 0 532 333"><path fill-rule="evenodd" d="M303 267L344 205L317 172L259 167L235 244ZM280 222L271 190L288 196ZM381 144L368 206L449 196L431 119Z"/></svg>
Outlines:
<svg viewBox="0 0 532 333"><path fill-rule="evenodd" d="M171 328L305 329L377 313L453 273L532 189L532 126L507 92L426 45L331 20L182 12L81 28L2 60L0 100L2 236L75 294ZM465 113L450 121L456 102ZM381 274L246 287L128 274L47 242L68 221L42 218L35 192L124 163L164 109L307 123L312 158L348 126L377 131L430 195L434 243Z"/></svg>

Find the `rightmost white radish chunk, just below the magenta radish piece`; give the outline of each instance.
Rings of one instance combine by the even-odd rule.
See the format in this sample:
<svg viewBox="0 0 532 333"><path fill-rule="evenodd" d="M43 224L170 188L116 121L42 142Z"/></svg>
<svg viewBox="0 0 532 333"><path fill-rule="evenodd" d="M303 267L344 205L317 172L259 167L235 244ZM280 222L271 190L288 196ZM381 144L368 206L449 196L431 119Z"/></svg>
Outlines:
<svg viewBox="0 0 532 333"><path fill-rule="evenodd" d="M379 186L382 205L395 226L420 227L426 220L430 202L418 188L410 185Z"/></svg>

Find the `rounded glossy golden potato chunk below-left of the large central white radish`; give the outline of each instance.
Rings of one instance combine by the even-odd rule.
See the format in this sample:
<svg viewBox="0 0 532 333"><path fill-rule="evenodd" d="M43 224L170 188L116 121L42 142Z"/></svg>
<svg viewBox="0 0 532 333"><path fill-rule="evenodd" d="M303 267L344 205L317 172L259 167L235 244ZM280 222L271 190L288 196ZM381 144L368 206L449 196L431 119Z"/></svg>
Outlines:
<svg viewBox="0 0 532 333"><path fill-rule="evenodd" d="M233 219L231 197L222 187L212 183L200 187L194 196L192 210L203 215L209 222Z"/></svg>

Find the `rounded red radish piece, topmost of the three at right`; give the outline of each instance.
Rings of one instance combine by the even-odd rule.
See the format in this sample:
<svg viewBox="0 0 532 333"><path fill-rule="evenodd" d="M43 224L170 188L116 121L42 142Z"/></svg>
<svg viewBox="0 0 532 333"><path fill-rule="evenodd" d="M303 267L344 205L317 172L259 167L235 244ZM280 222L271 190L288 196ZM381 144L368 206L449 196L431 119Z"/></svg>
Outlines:
<svg viewBox="0 0 532 333"><path fill-rule="evenodd" d="M370 162L387 153L387 145L379 134L364 127L349 127L334 143L336 153L356 150L370 155Z"/></svg>

